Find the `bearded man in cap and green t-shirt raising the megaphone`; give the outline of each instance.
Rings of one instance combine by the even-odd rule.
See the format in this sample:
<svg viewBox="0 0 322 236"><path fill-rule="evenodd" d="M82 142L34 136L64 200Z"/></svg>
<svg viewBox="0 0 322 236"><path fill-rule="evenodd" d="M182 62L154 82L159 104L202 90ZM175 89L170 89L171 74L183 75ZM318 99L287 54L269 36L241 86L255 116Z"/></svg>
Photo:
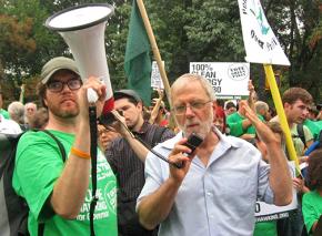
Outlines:
<svg viewBox="0 0 322 236"><path fill-rule="evenodd" d="M44 223L47 235L90 235L91 157L89 102L87 90L98 93L98 115L105 98L105 85L89 78L84 84L76 62L54 58L44 64L39 95L49 111L46 130L62 143L67 161L59 147L43 132L29 131L17 147L12 185L30 208L28 230L38 235ZM98 148L94 232L97 236L118 235L117 184L110 165Z"/></svg>

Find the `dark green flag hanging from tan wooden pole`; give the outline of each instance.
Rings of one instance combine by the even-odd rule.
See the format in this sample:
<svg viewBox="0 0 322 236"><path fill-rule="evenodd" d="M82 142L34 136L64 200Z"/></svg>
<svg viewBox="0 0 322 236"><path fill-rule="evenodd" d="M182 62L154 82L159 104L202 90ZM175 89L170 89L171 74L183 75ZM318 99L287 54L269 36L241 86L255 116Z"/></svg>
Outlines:
<svg viewBox="0 0 322 236"><path fill-rule="evenodd" d="M150 43L139 11L133 0L125 50L124 70L129 89L139 93L145 105L151 103Z"/></svg>

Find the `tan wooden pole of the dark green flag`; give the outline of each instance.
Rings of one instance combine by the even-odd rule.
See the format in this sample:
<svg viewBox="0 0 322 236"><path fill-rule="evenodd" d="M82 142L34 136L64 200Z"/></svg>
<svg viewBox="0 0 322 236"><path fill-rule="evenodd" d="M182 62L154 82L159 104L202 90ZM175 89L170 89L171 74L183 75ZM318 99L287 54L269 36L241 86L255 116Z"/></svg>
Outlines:
<svg viewBox="0 0 322 236"><path fill-rule="evenodd" d="M159 48L157 45L155 37L153 34L153 30L152 30L152 27L150 24L144 3L143 3L142 0L137 0L137 3L138 3L138 8L140 10L140 13L141 13L145 30L147 30L147 34L149 37L149 41L150 41L150 44L151 44L151 48L152 48L153 55L155 58L155 61L157 61L157 64L158 64L158 68L159 68L159 71L160 71L160 75L161 75L161 79L162 79L162 82L163 82L163 86L164 86L164 91L165 91L165 94L167 94L168 102L169 102L169 104L171 104L170 103L169 80L168 80L163 63L162 63L160 51L159 51Z"/></svg>

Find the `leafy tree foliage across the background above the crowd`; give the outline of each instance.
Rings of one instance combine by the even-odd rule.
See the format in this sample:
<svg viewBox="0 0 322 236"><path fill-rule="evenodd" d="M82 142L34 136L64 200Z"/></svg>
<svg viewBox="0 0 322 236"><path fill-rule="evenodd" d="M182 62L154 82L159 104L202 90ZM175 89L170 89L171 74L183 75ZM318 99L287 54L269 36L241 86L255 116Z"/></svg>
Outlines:
<svg viewBox="0 0 322 236"><path fill-rule="evenodd" d="M6 69L2 83L10 81L17 86L30 81L31 84L49 59L71 57L62 38L43 23L57 11L90 2L107 1L0 0L2 73ZM127 84L123 61L132 0L110 0L109 3L115 10L105 30L107 60L112 86L121 89ZM145 0L144 4L170 81L188 72L192 61L244 61L237 0ZM283 89L302 86L321 100L320 1L262 0L262 6L292 64L274 66L282 73ZM252 64L252 69L253 78L263 78L260 64Z"/></svg>

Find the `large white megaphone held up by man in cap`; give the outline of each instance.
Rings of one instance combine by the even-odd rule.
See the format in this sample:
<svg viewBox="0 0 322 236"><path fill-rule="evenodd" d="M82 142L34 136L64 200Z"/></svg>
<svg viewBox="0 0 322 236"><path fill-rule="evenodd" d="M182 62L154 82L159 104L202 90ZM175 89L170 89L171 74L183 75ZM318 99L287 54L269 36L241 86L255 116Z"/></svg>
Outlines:
<svg viewBox="0 0 322 236"><path fill-rule="evenodd" d="M89 3L64 9L46 21L46 27L59 32L69 45L82 80L99 78L107 85L107 98L102 115L113 109L113 92L107 63L104 31L114 8L108 3ZM88 90L89 102L98 95Z"/></svg>

